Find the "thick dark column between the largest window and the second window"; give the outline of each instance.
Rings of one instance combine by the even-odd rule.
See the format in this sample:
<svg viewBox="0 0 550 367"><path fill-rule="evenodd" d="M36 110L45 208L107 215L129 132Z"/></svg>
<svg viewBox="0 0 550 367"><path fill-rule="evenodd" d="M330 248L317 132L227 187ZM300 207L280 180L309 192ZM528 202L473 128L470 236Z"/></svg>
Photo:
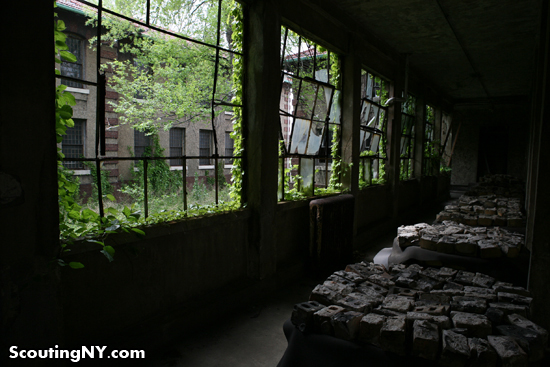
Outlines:
<svg viewBox="0 0 550 367"><path fill-rule="evenodd" d="M253 1L245 7L247 52L245 81L246 190L251 210L248 275L263 279L277 267L275 211L281 23L275 0Z"/></svg>

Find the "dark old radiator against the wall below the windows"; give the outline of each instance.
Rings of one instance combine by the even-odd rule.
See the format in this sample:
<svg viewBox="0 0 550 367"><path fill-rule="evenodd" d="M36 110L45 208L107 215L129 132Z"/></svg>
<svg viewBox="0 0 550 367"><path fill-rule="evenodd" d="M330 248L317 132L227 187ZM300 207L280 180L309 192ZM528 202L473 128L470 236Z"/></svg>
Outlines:
<svg viewBox="0 0 550 367"><path fill-rule="evenodd" d="M316 270L328 273L353 261L353 218L353 195L309 203L309 255Z"/></svg>

